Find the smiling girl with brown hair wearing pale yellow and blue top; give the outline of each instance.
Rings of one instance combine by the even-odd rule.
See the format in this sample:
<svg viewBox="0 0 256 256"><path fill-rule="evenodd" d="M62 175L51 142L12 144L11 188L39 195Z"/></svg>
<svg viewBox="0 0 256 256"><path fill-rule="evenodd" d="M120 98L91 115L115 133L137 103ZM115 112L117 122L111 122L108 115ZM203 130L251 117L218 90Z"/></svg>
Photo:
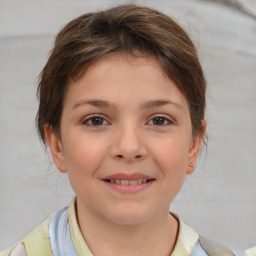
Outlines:
<svg viewBox="0 0 256 256"><path fill-rule="evenodd" d="M170 17L136 5L66 25L40 77L37 127L76 198L5 255L233 255L169 206L204 139L206 82Z"/></svg>

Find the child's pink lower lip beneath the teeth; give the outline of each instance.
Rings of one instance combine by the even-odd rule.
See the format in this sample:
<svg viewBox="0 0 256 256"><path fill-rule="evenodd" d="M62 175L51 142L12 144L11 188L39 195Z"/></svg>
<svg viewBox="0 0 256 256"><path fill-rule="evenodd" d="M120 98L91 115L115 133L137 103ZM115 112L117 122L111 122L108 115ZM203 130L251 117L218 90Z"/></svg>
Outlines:
<svg viewBox="0 0 256 256"><path fill-rule="evenodd" d="M122 185L122 184L111 183L107 181L104 181L104 182L107 186L109 186L111 189L117 192L124 193L124 194L135 194L150 187L154 181L152 180L152 181L137 184L137 185Z"/></svg>

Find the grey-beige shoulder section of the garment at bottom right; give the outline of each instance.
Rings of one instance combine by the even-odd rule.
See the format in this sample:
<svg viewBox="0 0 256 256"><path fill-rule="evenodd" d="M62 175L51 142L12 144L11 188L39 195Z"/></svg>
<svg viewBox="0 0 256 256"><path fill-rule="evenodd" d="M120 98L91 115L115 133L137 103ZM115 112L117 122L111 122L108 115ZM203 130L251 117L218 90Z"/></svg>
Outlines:
<svg viewBox="0 0 256 256"><path fill-rule="evenodd" d="M202 249L209 256L234 256L235 254L224 245L216 243L206 237L199 236L199 243Z"/></svg>

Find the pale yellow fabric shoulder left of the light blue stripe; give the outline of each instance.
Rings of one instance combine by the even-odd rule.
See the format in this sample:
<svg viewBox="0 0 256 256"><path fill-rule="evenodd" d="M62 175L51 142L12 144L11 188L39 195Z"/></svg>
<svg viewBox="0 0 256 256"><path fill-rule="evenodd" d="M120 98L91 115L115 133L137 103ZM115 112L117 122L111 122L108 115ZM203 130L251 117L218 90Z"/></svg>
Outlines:
<svg viewBox="0 0 256 256"><path fill-rule="evenodd" d="M49 239L49 223L50 219L47 219L19 243L1 252L0 256L53 255Z"/></svg>

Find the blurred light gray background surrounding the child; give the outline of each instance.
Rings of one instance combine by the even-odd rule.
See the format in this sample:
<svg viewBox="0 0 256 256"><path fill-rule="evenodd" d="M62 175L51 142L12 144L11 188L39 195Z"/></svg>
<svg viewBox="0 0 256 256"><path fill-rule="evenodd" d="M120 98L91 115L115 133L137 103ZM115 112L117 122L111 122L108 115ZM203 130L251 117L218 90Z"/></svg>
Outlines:
<svg viewBox="0 0 256 256"><path fill-rule="evenodd" d="M236 1L130 1L175 17L196 43L208 80L208 153L171 210L239 254L256 245L256 20ZM256 13L255 0L241 0ZM39 143L37 76L70 19L127 1L0 0L0 248L73 196Z"/></svg>

